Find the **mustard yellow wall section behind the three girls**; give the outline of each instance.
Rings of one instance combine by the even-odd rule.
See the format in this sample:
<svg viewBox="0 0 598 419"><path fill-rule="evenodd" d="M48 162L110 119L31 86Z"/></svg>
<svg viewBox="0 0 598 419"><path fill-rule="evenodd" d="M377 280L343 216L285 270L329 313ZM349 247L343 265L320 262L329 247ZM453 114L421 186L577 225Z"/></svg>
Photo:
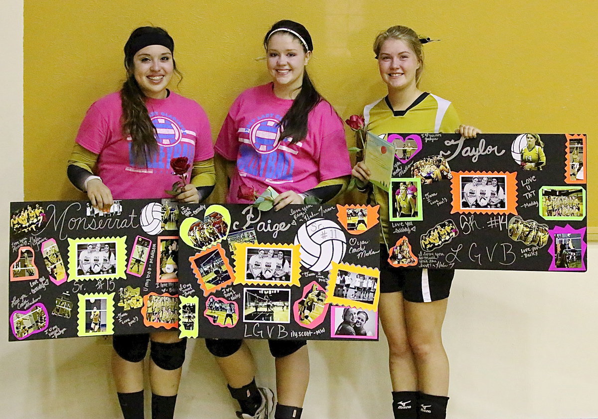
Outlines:
<svg viewBox="0 0 598 419"><path fill-rule="evenodd" d="M142 25L163 26L175 39L184 73L179 91L204 106L214 136L234 97L268 81L264 63L254 59L263 56L261 39L279 19L310 30L309 70L343 118L385 93L371 43L380 30L402 24L442 40L425 45L421 87L452 100L464 123L485 132L597 136L598 2L390 4L26 0L25 198L82 198L66 179L66 159L87 107L118 90L124 42ZM591 172L596 163L588 158L588 166ZM597 188L591 185L589 196ZM221 192L213 199L219 198ZM588 219L598 225L598 213Z"/></svg>

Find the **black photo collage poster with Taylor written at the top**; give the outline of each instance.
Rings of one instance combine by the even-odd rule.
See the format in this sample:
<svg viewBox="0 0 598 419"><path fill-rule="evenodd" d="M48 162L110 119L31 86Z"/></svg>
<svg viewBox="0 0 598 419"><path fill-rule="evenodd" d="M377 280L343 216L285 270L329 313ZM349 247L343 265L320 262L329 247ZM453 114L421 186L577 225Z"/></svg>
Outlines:
<svg viewBox="0 0 598 419"><path fill-rule="evenodd" d="M393 134L392 143L390 265L586 270L585 134Z"/></svg>

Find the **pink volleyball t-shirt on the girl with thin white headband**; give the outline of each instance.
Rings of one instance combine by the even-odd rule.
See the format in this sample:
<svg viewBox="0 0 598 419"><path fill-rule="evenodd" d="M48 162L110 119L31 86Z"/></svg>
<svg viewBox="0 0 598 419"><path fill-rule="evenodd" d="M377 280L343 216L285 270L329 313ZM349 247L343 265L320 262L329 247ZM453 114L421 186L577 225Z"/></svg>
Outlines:
<svg viewBox="0 0 598 419"><path fill-rule="evenodd" d="M280 120L293 101L276 97L272 84L250 88L237 97L216 140L216 152L236 161L228 203L251 203L239 196L242 185L261 194L268 186L297 193L322 181L350 175L343 121L322 100L309 113L307 137L291 144L281 138Z"/></svg>

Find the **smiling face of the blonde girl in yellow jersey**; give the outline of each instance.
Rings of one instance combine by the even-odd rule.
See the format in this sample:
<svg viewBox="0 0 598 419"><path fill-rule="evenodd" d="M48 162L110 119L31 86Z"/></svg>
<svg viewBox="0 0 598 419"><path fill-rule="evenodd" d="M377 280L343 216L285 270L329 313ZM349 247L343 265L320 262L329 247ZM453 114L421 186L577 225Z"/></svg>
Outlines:
<svg viewBox="0 0 598 419"><path fill-rule="evenodd" d="M378 68L389 91L405 90L416 87L420 61L407 42L389 38L380 48Z"/></svg>

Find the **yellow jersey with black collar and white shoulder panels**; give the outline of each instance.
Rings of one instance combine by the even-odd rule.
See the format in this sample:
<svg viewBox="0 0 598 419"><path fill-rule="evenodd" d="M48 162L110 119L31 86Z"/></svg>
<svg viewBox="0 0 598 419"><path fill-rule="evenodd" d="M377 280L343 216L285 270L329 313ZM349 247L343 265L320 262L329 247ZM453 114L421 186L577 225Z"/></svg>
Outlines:
<svg viewBox="0 0 598 419"><path fill-rule="evenodd" d="M453 103L432 93L422 93L405 111L394 111L388 96L365 106L364 119L368 131L386 138L392 133L452 133L460 121ZM380 205L380 243L388 237L388 191L373 187L373 197Z"/></svg>

